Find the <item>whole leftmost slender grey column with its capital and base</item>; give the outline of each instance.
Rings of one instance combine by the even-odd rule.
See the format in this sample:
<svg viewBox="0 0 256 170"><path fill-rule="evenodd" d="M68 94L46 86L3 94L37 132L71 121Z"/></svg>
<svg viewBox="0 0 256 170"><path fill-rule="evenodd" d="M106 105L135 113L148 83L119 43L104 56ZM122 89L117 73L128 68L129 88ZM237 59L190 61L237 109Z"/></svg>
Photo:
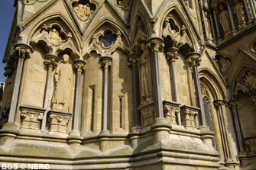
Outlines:
<svg viewBox="0 0 256 170"><path fill-rule="evenodd" d="M31 53L33 53L33 49L30 45L26 43L16 43L15 50L12 52L12 56L17 59L18 58L18 66L15 75L15 85L12 92L11 97L11 107L8 117L8 122L5 123L2 129L9 130L17 130L17 126L15 125L15 112L18 102L18 92L21 85L21 74L23 70L24 59L30 58Z"/></svg>

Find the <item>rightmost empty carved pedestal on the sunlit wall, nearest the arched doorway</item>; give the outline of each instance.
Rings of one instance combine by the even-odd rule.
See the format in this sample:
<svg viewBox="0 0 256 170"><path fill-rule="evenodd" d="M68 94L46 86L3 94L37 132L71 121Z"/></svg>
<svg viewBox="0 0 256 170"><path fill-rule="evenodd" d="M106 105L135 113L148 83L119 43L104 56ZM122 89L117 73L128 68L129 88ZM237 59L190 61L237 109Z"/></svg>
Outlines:
<svg viewBox="0 0 256 170"><path fill-rule="evenodd" d="M198 127L198 112L200 111L197 107L183 105L180 107L181 124L187 130L196 130Z"/></svg>

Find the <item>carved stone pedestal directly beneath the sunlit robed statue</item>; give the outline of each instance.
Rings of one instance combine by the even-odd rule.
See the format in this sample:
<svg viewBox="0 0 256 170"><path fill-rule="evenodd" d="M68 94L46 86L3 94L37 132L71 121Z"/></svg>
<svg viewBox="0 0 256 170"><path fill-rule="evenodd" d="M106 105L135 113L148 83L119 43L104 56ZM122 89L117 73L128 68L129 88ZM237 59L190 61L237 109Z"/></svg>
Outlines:
<svg viewBox="0 0 256 170"><path fill-rule="evenodd" d="M48 112L49 134L68 136L70 122L73 113L63 111Z"/></svg>

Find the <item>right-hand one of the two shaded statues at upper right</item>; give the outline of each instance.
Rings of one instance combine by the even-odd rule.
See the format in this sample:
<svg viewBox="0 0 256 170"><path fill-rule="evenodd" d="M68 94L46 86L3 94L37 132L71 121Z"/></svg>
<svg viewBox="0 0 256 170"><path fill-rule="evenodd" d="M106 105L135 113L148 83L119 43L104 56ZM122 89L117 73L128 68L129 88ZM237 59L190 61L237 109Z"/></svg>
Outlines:
<svg viewBox="0 0 256 170"><path fill-rule="evenodd" d="M238 29L245 27L245 8L242 2L238 2L238 0L235 0L235 8L234 13L236 14L236 17L238 18Z"/></svg>

